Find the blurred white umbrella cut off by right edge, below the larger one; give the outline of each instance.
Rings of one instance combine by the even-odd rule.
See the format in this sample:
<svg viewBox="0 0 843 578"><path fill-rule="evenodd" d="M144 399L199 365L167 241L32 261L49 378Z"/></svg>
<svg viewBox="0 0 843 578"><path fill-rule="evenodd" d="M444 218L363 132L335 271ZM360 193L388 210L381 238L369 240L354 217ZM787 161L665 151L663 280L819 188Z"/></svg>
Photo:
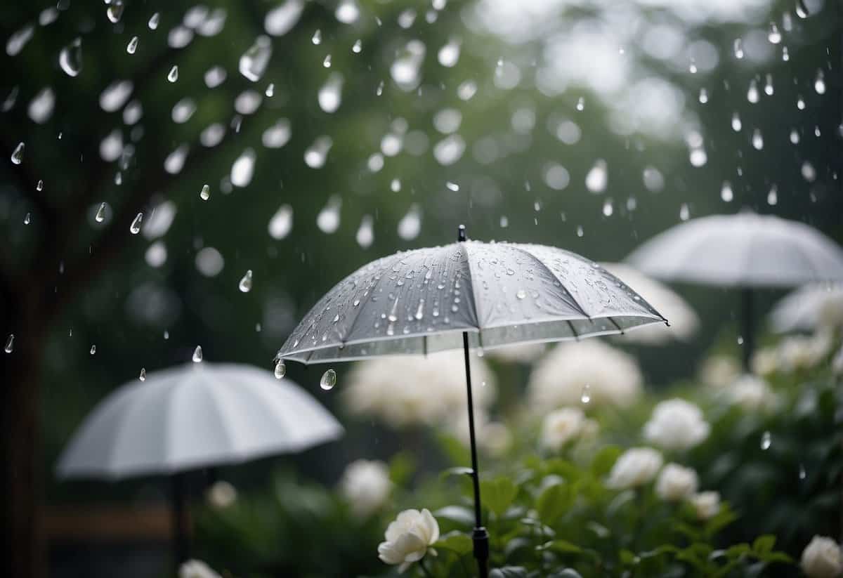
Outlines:
<svg viewBox="0 0 843 578"><path fill-rule="evenodd" d="M788 293L773 307L770 323L777 333L843 324L843 285L816 283Z"/></svg>

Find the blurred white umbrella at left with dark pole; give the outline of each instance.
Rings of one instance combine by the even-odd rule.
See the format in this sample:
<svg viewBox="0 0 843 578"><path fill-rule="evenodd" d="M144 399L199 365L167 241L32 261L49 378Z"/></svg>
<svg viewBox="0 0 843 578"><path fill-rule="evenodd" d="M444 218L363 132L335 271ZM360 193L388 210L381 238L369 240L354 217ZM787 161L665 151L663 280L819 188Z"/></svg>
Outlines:
<svg viewBox="0 0 843 578"><path fill-rule="evenodd" d="M110 393L78 428L56 473L169 475L179 565L188 554L185 471L300 452L341 435L334 417L289 380L245 365L188 363Z"/></svg>

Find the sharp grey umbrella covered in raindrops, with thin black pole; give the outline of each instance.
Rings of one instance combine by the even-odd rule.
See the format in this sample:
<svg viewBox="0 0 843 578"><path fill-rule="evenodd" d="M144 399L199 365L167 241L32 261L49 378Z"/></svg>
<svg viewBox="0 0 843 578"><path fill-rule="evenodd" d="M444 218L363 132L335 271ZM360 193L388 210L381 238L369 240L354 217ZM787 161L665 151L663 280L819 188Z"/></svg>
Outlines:
<svg viewBox="0 0 843 578"><path fill-rule="evenodd" d="M303 363L462 348L468 394L475 558L488 572L471 393L470 348L623 333L665 319L599 264L542 245L467 242L373 261L340 281L278 351ZM330 388L329 369L322 386Z"/></svg>

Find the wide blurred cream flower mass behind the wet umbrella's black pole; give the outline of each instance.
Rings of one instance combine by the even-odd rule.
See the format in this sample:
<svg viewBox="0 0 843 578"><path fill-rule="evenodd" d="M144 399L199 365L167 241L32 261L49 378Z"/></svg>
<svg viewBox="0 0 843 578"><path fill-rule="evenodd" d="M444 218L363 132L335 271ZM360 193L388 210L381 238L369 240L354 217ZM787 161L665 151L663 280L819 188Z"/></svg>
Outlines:
<svg viewBox="0 0 843 578"><path fill-rule="evenodd" d="M495 399L494 377L480 357L471 360L475 409ZM429 356L384 356L357 363L346 378L343 400L352 413L399 428L464 419L467 400L462 351Z"/></svg>

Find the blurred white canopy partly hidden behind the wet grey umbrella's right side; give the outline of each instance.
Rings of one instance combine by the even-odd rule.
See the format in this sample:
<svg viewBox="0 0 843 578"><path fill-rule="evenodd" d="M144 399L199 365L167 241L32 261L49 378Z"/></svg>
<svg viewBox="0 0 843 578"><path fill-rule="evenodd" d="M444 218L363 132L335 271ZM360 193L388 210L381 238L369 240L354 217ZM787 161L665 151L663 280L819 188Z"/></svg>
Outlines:
<svg viewBox="0 0 843 578"><path fill-rule="evenodd" d="M631 286L654 308L670 319L670 327L665 325L647 325L640 331L626 336L626 340L642 345L663 345L672 340L688 341L700 325L700 318L690 304L677 292L644 275L630 265L623 263L603 263L606 270L618 276Z"/></svg>

